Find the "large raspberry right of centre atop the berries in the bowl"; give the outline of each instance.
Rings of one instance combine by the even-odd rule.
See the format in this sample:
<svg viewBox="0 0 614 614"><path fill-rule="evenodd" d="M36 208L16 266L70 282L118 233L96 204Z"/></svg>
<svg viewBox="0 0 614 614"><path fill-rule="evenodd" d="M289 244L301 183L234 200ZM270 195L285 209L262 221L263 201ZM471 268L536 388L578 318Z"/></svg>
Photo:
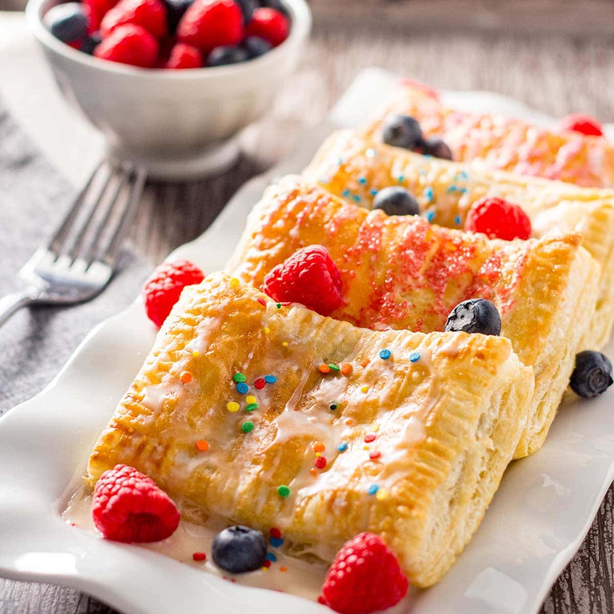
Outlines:
<svg viewBox="0 0 614 614"><path fill-rule="evenodd" d="M209 53L243 38L243 13L234 0L195 0L177 26L181 42Z"/></svg>

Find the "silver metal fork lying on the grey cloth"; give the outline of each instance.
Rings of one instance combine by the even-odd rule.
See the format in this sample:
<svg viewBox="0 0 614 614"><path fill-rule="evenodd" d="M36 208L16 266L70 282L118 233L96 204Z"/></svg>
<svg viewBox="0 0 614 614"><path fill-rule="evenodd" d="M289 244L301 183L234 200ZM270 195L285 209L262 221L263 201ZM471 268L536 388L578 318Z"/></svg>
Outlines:
<svg viewBox="0 0 614 614"><path fill-rule="evenodd" d="M0 325L31 303L69 305L101 292L115 270L145 180L141 166L103 160L53 238L19 271L21 290L0 298Z"/></svg>

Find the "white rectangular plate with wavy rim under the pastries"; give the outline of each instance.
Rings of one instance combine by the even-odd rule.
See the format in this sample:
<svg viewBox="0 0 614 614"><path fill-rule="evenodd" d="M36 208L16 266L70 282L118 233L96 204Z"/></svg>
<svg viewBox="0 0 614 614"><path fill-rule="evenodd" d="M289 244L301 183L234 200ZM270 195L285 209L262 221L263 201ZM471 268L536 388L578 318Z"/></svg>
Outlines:
<svg viewBox="0 0 614 614"><path fill-rule="evenodd" d="M395 78L363 71L300 150L274 175L300 171L330 130L358 125ZM538 122L548 117L484 92L447 92L472 109ZM173 256L204 271L223 268L244 220L270 179L246 184L200 238ZM135 294L138 289L134 289ZM85 461L152 345L140 301L103 322L45 391L0 419L0 575L74 586L125 614L315 614L330 611L287 594L231 584L161 554L105 542L60 518L63 491ZM610 343L605 352L614 354ZM614 478L612 394L565 405L543 449L508 468L480 529L412 614L530 614L579 548Z"/></svg>

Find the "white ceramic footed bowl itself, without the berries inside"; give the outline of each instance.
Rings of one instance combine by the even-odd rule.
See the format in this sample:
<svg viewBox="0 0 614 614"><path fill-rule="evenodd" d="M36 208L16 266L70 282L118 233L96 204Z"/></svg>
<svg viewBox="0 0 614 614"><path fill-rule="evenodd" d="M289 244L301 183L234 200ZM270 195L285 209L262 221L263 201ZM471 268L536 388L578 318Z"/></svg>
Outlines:
<svg viewBox="0 0 614 614"><path fill-rule="evenodd" d="M292 21L281 45L255 60L216 68L156 70L99 60L58 41L43 25L58 0L29 0L29 27L66 99L101 130L109 154L150 176L185 179L236 159L238 132L270 109L311 29L305 0L282 0Z"/></svg>

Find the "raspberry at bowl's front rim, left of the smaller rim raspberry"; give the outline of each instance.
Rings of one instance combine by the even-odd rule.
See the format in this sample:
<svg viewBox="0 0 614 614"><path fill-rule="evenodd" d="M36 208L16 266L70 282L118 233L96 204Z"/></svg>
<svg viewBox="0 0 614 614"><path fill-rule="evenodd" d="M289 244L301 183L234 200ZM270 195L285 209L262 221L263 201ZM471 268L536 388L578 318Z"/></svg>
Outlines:
<svg viewBox="0 0 614 614"><path fill-rule="evenodd" d="M151 68L158 55L158 41L145 28L126 23L117 26L96 47L94 55L101 60Z"/></svg>

